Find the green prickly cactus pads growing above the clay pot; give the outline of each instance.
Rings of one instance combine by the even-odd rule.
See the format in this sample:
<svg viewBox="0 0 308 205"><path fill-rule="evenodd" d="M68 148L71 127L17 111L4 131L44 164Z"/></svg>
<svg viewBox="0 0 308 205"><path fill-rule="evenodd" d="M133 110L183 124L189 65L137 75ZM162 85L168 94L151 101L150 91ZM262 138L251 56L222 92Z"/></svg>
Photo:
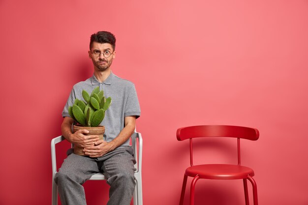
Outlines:
<svg viewBox="0 0 308 205"><path fill-rule="evenodd" d="M91 95L82 90L82 97L86 102L76 98L74 105L68 107L68 114L85 127L97 127L111 105L111 97L105 98L104 91L99 91L99 87L94 88Z"/></svg>

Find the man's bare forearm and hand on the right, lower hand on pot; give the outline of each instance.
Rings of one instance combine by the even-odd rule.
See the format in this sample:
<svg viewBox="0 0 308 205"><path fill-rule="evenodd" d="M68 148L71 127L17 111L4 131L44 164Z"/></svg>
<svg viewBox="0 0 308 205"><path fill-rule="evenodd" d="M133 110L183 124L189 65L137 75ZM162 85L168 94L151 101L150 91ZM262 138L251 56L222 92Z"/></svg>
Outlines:
<svg viewBox="0 0 308 205"><path fill-rule="evenodd" d="M115 139L113 139L111 142L99 140L94 143L95 146L89 146L84 148L85 154L89 155L90 157L100 157L114 150L115 148L121 146L124 142L126 142L130 138L130 136L133 134L135 130L135 126L136 126L135 116L125 117L124 128Z"/></svg>

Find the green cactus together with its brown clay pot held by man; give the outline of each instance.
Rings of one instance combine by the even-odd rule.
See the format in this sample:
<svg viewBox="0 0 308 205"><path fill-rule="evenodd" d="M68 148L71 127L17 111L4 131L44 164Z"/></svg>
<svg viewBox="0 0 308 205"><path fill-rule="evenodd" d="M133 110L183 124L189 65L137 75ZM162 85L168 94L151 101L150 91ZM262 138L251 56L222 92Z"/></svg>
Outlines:
<svg viewBox="0 0 308 205"><path fill-rule="evenodd" d="M111 97L105 98L104 91L99 87L93 89L91 95L82 91L85 101L75 99L74 105L68 107L68 113L78 124L73 126L73 132L80 129L89 130L87 135L98 135L102 140L105 132L104 126L99 126L105 117L106 110L111 105ZM74 153L84 155L83 148L74 146Z"/></svg>

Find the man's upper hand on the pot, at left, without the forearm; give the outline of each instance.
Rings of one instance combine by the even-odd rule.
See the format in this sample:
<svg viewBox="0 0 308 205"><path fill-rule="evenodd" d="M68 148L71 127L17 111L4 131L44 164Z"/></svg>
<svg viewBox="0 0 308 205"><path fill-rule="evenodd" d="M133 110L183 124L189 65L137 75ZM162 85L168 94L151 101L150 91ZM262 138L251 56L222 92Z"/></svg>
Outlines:
<svg viewBox="0 0 308 205"><path fill-rule="evenodd" d="M69 141L80 147L94 146L95 142L99 141L99 138L97 135L85 135L88 133L89 130L86 129L78 130L77 132L69 136Z"/></svg>

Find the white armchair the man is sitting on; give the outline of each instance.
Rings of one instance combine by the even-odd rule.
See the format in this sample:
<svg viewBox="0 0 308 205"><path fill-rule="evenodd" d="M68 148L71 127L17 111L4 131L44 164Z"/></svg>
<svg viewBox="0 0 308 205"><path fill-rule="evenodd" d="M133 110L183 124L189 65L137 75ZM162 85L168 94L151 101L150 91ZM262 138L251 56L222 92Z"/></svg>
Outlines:
<svg viewBox="0 0 308 205"><path fill-rule="evenodd" d="M139 140L139 146L137 146L136 139ZM51 161L52 161L52 205L58 205L58 185L55 182L55 175L57 171L57 162L56 162L56 144L62 142L65 138L61 135L52 139L51 141ZM142 137L141 133L134 132L131 136L131 146L134 149L134 157L137 161L135 164L135 180L136 187L133 194L134 205L142 205L142 180L141 180L141 165L142 165ZM106 180L105 176L102 173L97 173L93 175L89 180Z"/></svg>

